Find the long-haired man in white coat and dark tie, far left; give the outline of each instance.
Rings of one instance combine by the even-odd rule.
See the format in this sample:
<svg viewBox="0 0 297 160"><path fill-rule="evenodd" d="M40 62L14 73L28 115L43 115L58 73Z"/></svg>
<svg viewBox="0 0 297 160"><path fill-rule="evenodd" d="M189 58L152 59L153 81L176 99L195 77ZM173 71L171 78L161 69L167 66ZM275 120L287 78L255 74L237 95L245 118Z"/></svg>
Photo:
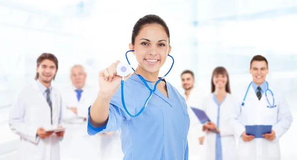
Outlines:
<svg viewBox="0 0 297 160"><path fill-rule="evenodd" d="M46 132L61 127L61 96L51 86L57 70L57 58L41 54L36 81L21 90L11 107L9 127L20 136L19 160L60 160L59 141L65 131Z"/></svg>

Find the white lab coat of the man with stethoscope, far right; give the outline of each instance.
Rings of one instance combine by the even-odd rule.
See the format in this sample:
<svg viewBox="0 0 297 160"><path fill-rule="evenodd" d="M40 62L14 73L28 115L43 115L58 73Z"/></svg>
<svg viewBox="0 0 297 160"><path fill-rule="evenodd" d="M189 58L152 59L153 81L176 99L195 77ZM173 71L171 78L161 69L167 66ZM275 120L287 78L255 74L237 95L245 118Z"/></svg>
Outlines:
<svg viewBox="0 0 297 160"><path fill-rule="evenodd" d="M269 85L275 99L274 108L269 108L265 94L258 100L254 89L250 86L245 101L245 106L241 106L241 102L232 112L231 123L234 125L236 137L239 138L237 156L238 160L281 160L279 139L290 128L293 117L288 106L288 103L280 91ZM242 101L247 87L242 90L240 100ZM267 92L268 100L272 103L272 98L269 98L270 92ZM245 131L245 125L273 125L272 129L276 133L276 138L273 141L264 138L253 139L249 142L244 142L241 138Z"/></svg>

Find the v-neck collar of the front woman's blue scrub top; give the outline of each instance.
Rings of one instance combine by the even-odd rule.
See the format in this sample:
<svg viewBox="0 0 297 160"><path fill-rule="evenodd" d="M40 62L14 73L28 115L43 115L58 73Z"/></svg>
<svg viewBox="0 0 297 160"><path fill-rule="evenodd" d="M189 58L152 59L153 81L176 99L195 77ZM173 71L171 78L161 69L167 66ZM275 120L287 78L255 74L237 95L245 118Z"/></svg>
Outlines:
<svg viewBox="0 0 297 160"><path fill-rule="evenodd" d="M142 85L146 86L145 83L138 77L138 75L136 74L132 74L131 77L130 77L131 80L133 81L137 81L139 83L141 83ZM172 101L171 101L171 98L173 97L173 95L171 95L171 88L168 86L168 83L165 81L165 79L162 79L162 81L165 82L165 85L166 85L166 89L167 89L167 94L168 94L168 97L165 96L160 90L158 90L156 88L155 92L153 92L153 94L155 94L156 96L160 97L161 99L163 99L166 103L168 103L171 107L172 106ZM153 90L154 88L154 84L153 83L150 83L150 82L147 82L149 88L151 90Z"/></svg>

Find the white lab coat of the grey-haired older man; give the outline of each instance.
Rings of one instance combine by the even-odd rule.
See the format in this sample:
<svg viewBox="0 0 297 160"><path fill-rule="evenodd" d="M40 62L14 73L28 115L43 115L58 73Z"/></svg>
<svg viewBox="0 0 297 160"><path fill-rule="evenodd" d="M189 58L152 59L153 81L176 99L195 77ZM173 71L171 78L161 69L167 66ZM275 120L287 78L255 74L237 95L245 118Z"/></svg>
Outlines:
<svg viewBox="0 0 297 160"><path fill-rule="evenodd" d="M63 98L63 126L67 127L61 143L61 158L65 160L98 160L100 150L99 135L90 136L87 132L88 108L94 103L98 95L98 88L85 85L80 101L74 86L67 86L61 90ZM67 109L77 107L77 114Z"/></svg>

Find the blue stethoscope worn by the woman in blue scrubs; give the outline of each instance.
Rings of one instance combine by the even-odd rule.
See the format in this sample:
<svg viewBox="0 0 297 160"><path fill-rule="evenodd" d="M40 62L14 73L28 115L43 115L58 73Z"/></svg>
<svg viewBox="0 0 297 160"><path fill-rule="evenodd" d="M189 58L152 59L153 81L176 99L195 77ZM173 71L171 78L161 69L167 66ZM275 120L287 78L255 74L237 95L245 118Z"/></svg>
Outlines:
<svg viewBox="0 0 297 160"><path fill-rule="evenodd" d="M123 104L123 107L124 107L124 109L126 110L126 112L127 112L128 115L130 115L131 117L136 117L136 116L140 115L140 114L144 111L144 109L147 107L147 105L148 105L148 101L149 101L149 99L151 98L152 93L155 92L156 87L157 87L157 84L158 84L162 79L164 79L164 77L171 71L171 69L172 69L172 67L173 67L173 64L174 64L174 59L173 59L173 57L172 57L171 55L168 54L168 56L170 56L170 57L172 58L172 65L171 65L169 71L168 71L162 78L159 78L159 80L154 81L154 82L156 82L156 83L155 83L154 88L153 88L153 90L152 90L152 89L148 86L148 83L147 83L147 82L149 82L149 83L154 83L154 82L146 80L145 78L143 78L141 75L139 75L139 74L135 71L135 69L131 66L131 64L130 64L130 62L129 62L129 59L128 59L128 57L127 57L127 53L129 53L129 52L134 52L134 50L130 50L130 51L127 51L127 52L126 52L126 59L127 59L129 65L130 65L130 67L133 69L134 73L135 73L135 74L136 74L136 75L137 75L137 76L138 76L138 77L145 83L146 87L147 87L148 90L150 91L149 96L148 96L148 99L146 100L144 106L141 108L141 110L140 110L137 114L133 115L133 114L131 114L131 113L128 111L128 109L127 109L127 107L126 107L126 105L125 105L125 101L124 101L124 77L122 78L122 81L121 81L121 93L122 93L122 104Z"/></svg>

